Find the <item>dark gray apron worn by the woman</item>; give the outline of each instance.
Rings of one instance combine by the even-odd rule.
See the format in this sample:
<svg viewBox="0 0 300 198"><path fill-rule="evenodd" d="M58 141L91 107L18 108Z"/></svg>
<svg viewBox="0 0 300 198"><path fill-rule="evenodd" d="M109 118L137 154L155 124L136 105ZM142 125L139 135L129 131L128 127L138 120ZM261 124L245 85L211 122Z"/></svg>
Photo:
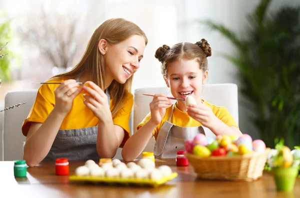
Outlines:
<svg viewBox="0 0 300 198"><path fill-rule="evenodd" d="M106 89L105 94L108 98L108 105L110 106L108 89ZM97 126L58 130L52 147L44 160L54 161L57 158L84 161L100 159L96 149L97 131Z"/></svg>

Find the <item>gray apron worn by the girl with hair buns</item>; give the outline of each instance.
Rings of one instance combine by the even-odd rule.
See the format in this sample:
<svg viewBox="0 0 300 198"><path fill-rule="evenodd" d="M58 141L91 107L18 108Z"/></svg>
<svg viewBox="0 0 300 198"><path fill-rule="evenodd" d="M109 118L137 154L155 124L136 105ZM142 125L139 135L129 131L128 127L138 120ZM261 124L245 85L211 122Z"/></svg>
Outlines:
<svg viewBox="0 0 300 198"><path fill-rule="evenodd" d="M155 145L154 156L156 158L176 158L178 150L184 149L185 140L191 140L198 133L205 135L202 126L199 127L179 127L170 123L175 103L172 106L171 115L165 121L158 133Z"/></svg>

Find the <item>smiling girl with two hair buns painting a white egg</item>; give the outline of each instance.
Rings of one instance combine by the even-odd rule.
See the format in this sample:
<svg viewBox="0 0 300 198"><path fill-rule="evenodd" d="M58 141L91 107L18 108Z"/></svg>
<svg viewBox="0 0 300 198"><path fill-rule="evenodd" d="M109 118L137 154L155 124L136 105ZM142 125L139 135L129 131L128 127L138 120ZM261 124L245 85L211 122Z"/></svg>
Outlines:
<svg viewBox="0 0 300 198"><path fill-rule="evenodd" d="M151 112L137 126L122 149L125 161L134 160L152 136L156 142L154 155L158 158L175 158L177 150L184 150L184 141L203 133L201 126L215 135L240 136L234 119L224 107L217 107L201 99L202 84L207 80L207 59L211 48L205 39L192 43L163 45L155 52L161 63L161 73L166 86L175 98L195 98L197 104L185 106L178 100L171 103L162 94L156 94L150 103Z"/></svg>

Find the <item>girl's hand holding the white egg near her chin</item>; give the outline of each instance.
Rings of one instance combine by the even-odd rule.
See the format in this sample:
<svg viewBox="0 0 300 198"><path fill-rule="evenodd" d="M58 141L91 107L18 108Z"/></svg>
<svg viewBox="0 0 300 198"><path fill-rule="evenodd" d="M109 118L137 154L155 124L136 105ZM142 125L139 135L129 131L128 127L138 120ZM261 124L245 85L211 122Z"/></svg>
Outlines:
<svg viewBox="0 0 300 198"><path fill-rule="evenodd" d="M203 104L189 105L186 109L186 112L190 117L209 129L213 127L218 119L213 114L212 110Z"/></svg>

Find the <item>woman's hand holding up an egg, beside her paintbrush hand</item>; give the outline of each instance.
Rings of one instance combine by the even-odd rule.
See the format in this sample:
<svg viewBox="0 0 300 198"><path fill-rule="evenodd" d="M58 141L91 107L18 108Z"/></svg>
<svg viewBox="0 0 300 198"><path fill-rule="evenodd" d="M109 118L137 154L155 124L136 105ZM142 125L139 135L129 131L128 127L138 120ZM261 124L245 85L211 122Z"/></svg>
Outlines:
<svg viewBox="0 0 300 198"><path fill-rule="evenodd" d="M108 98L103 90L95 83L88 81L84 83L82 89L87 93L83 95L83 103L92 111L99 121L105 122L111 118Z"/></svg>

